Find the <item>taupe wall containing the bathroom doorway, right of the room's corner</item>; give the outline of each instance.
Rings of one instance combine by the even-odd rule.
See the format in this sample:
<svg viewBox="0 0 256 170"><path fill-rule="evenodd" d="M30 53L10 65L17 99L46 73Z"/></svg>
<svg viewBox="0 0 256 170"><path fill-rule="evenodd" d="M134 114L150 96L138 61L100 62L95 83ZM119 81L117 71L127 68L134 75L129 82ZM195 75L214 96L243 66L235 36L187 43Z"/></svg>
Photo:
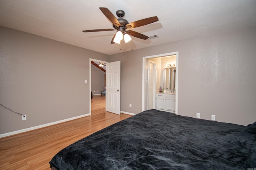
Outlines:
<svg viewBox="0 0 256 170"><path fill-rule="evenodd" d="M244 28L111 55L121 61L121 110L142 111L142 57L178 51L179 115L254 123L255 47L256 28Z"/></svg>

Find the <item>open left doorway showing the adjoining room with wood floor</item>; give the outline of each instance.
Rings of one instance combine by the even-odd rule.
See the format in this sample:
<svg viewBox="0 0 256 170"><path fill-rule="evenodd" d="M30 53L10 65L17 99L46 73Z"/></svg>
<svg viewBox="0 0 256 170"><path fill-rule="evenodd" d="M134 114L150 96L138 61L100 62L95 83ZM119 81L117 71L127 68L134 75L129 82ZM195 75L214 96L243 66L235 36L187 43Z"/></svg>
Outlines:
<svg viewBox="0 0 256 170"><path fill-rule="evenodd" d="M105 79L105 64L107 61L102 61L98 59L89 59L89 67L90 67L90 115L92 115L92 100L93 100L93 110L95 111L95 107L103 108L105 110L106 99L104 88L106 87L106 79ZM98 73L97 73L98 72ZM104 94L103 94L103 93Z"/></svg>

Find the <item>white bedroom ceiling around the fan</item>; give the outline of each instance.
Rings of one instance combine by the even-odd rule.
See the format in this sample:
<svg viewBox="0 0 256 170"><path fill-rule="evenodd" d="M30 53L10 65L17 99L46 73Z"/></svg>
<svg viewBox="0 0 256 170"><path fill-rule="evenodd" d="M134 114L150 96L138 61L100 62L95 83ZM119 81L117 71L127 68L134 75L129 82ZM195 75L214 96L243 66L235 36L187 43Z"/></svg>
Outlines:
<svg viewBox="0 0 256 170"><path fill-rule="evenodd" d="M134 22L157 16L158 22L132 30L159 38L110 44L115 31L99 7ZM108 55L196 36L256 26L256 0L0 0L0 25Z"/></svg>

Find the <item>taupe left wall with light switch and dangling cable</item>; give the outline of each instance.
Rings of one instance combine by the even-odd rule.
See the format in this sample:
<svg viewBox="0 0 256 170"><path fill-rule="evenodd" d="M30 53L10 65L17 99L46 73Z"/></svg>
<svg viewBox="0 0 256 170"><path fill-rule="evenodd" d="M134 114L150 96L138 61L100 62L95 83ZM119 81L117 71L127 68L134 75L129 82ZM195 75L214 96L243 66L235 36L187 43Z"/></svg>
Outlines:
<svg viewBox="0 0 256 170"><path fill-rule="evenodd" d="M0 27L0 103L27 115L0 106L0 134L88 114L89 58L109 56Z"/></svg>

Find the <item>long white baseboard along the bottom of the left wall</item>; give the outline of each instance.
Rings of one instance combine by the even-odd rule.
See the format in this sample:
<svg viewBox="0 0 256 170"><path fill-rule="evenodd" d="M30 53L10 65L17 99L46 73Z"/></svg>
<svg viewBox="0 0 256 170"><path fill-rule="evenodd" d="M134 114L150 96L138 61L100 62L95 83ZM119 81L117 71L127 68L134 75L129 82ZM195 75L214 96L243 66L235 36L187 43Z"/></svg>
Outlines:
<svg viewBox="0 0 256 170"><path fill-rule="evenodd" d="M80 115L80 116L77 116L77 117L72 117L72 118L61 120L61 121L56 121L56 122L52 122L52 123L46 123L44 125L38 125L38 126L35 126L35 127L30 127L30 128L25 128L25 129L21 129L21 130L16 130L16 131L13 131L13 132L8 132L8 133L0 134L0 138L6 137L6 136L11 136L11 135L14 135L14 134L23 133L23 132L28 132L30 130L35 130L35 129L38 129L38 128L48 127L48 126L55 125L55 124L58 124L58 123L72 121L74 119L78 119L78 118L86 117L86 116L90 116L90 115L91 114L88 113L88 114L85 114L85 115Z"/></svg>

